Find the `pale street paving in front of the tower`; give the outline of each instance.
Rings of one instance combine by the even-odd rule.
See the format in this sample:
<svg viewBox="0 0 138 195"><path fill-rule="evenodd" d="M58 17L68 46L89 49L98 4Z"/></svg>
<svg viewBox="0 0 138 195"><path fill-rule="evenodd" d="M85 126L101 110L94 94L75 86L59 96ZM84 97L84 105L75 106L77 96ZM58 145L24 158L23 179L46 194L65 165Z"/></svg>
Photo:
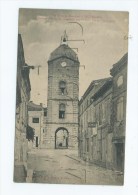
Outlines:
<svg viewBox="0 0 138 195"><path fill-rule="evenodd" d="M35 149L28 154L33 183L121 185L123 177L114 171L88 164L73 150Z"/></svg>

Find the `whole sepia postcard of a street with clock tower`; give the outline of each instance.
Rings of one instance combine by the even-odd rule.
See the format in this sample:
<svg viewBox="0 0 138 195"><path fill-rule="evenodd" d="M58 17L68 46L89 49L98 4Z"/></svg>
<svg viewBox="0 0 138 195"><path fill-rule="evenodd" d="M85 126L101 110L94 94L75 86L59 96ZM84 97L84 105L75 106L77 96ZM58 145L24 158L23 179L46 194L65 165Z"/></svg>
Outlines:
<svg viewBox="0 0 138 195"><path fill-rule="evenodd" d="M127 11L20 8L16 183L124 185Z"/></svg>

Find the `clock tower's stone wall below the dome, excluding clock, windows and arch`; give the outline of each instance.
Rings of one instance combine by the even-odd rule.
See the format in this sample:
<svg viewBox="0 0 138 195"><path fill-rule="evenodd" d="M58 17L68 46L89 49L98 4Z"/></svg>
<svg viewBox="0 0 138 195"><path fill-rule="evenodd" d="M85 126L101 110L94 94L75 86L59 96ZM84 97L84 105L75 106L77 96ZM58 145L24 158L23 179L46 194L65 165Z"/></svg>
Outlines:
<svg viewBox="0 0 138 195"><path fill-rule="evenodd" d="M61 63L66 61L67 66ZM66 83L65 94L61 94L60 81ZM58 128L68 131L68 148L78 147L78 95L79 62L66 57L48 63L48 102L46 148L55 148L55 132ZM65 118L59 118L59 105L65 104Z"/></svg>

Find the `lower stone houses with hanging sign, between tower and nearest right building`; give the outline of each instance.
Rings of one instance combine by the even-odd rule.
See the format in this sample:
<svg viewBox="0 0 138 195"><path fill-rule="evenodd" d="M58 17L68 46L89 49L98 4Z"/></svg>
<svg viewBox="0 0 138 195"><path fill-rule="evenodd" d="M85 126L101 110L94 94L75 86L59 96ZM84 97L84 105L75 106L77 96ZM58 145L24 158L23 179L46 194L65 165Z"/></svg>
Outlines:
<svg viewBox="0 0 138 195"><path fill-rule="evenodd" d="M83 160L111 168L112 78L93 81L79 102L79 155Z"/></svg>

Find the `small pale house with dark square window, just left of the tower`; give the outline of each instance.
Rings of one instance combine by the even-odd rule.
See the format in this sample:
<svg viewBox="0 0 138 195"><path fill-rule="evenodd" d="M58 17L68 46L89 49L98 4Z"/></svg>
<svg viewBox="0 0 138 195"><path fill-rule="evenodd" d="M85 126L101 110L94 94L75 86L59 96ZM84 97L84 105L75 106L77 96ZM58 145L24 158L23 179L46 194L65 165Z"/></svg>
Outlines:
<svg viewBox="0 0 138 195"><path fill-rule="evenodd" d="M44 144L44 132L46 130L46 116L47 109L40 105L33 103L28 104L28 124L34 129L35 136L33 146L42 148Z"/></svg>

